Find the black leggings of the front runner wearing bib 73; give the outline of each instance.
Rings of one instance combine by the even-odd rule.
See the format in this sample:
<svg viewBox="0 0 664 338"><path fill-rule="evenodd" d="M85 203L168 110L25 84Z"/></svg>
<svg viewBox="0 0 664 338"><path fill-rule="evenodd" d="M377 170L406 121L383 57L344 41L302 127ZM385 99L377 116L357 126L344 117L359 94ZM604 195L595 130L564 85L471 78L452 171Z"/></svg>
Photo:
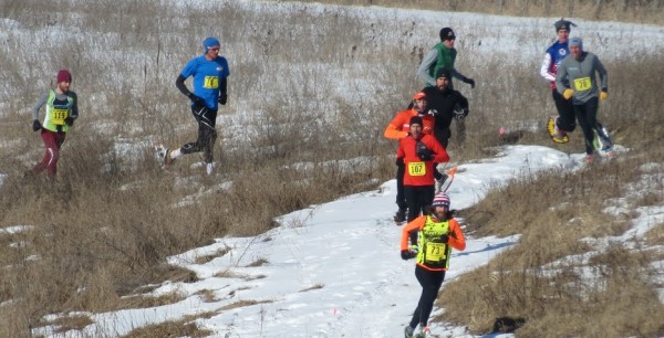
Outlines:
<svg viewBox="0 0 664 338"><path fill-rule="evenodd" d="M422 285L422 295L413 313L413 318L411 318L411 327L414 328L419 325L419 328L424 328L428 324L428 317L434 309L434 302L436 302L436 297L438 297L438 292L445 279L445 272L428 271L419 265L415 265L415 277L417 277L417 282Z"/></svg>

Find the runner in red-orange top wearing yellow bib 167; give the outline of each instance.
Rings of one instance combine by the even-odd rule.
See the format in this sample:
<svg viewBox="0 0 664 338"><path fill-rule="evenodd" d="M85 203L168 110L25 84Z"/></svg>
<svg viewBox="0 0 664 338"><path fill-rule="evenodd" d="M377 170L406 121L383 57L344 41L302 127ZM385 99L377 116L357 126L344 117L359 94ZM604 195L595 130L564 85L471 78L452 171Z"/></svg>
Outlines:
<svg viewBox="0 0 664 338"><path fill-rule="evenodd" d="M438 140L422 130L423 119L411 117L411 134L400 140L397 158L404 159L404 197L408 205L407 220L413 221L432 204L435 194L436 163L449 161Z"/></svg>

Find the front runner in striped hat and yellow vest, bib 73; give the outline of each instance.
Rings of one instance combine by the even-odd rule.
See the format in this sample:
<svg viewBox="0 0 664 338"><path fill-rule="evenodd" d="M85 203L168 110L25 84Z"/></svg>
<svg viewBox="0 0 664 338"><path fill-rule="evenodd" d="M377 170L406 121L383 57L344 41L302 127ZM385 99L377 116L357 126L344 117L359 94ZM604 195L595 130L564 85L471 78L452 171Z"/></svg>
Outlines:
<svg viewBox="0 0 664 338"><path fill-rule="evenodd" d="M409 325L404 329L405 337L413 337L417 325L421 331L427 330L434 302L449 267L452 247L458 251L466 250L464 232L449 211L449 197L445 192L436 194L430 215L422 215L402 230L401 256L403 260L416 258L415 277L422 285L417 307ZM412 232L419 233L416 246L409 245L413 243Z"/></svg>

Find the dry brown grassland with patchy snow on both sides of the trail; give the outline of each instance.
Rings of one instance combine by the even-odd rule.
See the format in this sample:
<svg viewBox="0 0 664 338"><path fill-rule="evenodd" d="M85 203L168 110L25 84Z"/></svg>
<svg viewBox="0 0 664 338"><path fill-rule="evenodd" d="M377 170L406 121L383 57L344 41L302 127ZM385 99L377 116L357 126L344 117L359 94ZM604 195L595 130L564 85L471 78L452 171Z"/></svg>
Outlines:
<svg viewBox="0 0 664 338"><path fill-rule="evenodd" d="M447 2L452 10L474 10L463 1ZM521 12L508 10L506 2L491 2L487 10L538 14L531 12L537 1L525 1ZM375 188L394 176L395 145L382 130L419 88L413 74L432 34L422 36L415 24L356 17L352 8L330 13L281 4L277 20L262 17L261 8L274 6L269 3L0 3L7 51L0 54L6 84L0 91L0 172L7 175L0 186L0 228L29 226L0 233L0 337L29 337L29 328L49 323L49 314L175 302L177 295L142 296L164 281L195 278L165 264L166 256L218 236L262 233L274 226L277 215ZM605 3L620 9L626 1ZM656 12L655 3L636 6L625 20ZM424 2L405 6L427 8ZM620 11L603 9L595 10L598 19L621 19ZM229 104L218 122L219 170L204 176L200 159L191 156L164 171L152 142L173 147L195 137L187 99L174 83L207 35L220 38L231 67ZM499 138L496 130L506 123L539 124L546 115L533 110L553 112L550 92L537 76L539 57L523 64L506 62L509 55L498 53L470 54L461 54L458 66L480 84L473 92L463 89L471 99L469 137L464 145L452 142L454 160L485 157L506 142L583 151L579 131L561 146L552 145L543 129ZM664 115L655 89L664 77L662 57L639 54L605 62L612 85L601 119L629 152L592 171L517 180L460 211L473 235L520 233L522 241L489 266L447 285L438 304L446 309L442 319L478 334L502 323L497 318L508 318L523 321L517 330L523 336L664 335L657 320L664 308L655 297L662 285L649 278L663 273L654 262L662 261L664 224L630 251L591 250L579 241L620 234L639 207L662 204L662 170L645 169L664 160L658 146ZM61 67L73 73L81 119L63 147L56 180L24 177L43 155L41 139L30 129L30 108ZM644 176L650 184L636 186ZM605 201L632 189L646 193L630 200L619 215L604 211ZM584 252L592 258L566 260ZM559 262L562 272L551 274L548 266ZM596 267L604 287L574 271L583 266ZM86 323L83 316L60 325ZM178 336L196 332L189 325L173 326ZM134 337L162 335L152 329Z"/></svg>

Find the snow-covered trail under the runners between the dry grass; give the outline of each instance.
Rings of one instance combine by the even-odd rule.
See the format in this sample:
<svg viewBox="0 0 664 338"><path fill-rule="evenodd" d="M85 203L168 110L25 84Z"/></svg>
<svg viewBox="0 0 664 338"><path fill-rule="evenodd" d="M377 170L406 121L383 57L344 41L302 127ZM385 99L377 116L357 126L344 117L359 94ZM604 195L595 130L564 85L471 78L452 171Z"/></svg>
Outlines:
<svg viewBox="0 0 664 338"><path fill-rule="evenodd" d="M502 148L496 158L460 166L466 170L457 173L448 191L452 207L468 208L488 189L525 172L557 166L574 170L582 157L539 146ZM168 283L153 294L175 291L185 300L90 315L95 324L83 332L56 336L124 335L136 327L208 314L194 320L215 337L403 337L421 287L414 262L400 257L401 228L392 222L395 190L391 180L376 191L283 215L280 226L259 236L218 239L173 256L170 263L196 272L199 281ZM468 237L466 251L453 251L446 281L486 264L517 241ZM216 257L196 263L209 255ZM435 324L432 334L473 337L464 328Z"/></svg>

